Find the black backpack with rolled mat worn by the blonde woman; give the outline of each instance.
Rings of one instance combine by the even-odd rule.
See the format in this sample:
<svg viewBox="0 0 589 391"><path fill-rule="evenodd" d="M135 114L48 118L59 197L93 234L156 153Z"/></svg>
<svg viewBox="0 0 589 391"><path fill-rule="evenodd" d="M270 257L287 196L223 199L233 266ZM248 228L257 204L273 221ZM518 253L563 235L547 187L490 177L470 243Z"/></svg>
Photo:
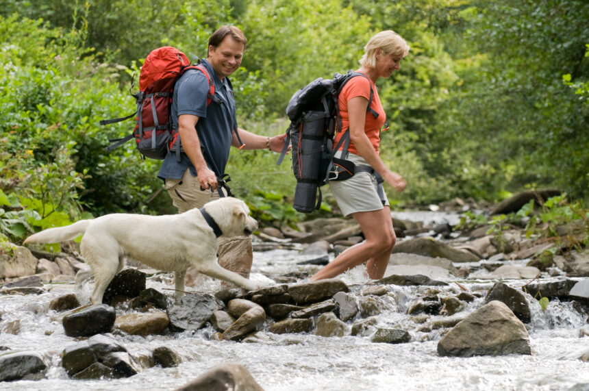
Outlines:
<svg viewBox="0 0 589 391"><path fill-rule="evenodd" d="M333 79L319 77L292 95L286 108L290 125L286 129L287 138L277 164L281 164L289 141L292 144L292 171L297 178L294 190L295 210L310 213L321 207L321 186L327 181L349 179L357 171L355 165L345 160L350 143L348 129L342 128L338 96L345 84L356 76L368 77L364 73L349 71L345 75L336 73ZM377 118L378 113L371 109L373 89L368 99L369 111ZM344 134L334 148L336 131ZM334 157L343 145L342 159Z"/></svg>

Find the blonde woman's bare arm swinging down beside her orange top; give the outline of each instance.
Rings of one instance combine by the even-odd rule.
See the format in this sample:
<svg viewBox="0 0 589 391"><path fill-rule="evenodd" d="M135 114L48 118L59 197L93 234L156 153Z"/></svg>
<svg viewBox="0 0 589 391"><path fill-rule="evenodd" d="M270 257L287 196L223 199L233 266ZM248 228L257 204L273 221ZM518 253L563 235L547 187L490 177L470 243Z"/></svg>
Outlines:
<svg viewBox="0 0 589 391"><path fill-rule="evenodd" d="M384 164L364 132L367 108L368 99L364 97L353 97L348 101L350 140L360 152L360 156L364 157L366 162L382 176L386 183L401 192L405 189L405 180L398 173L390 171Z"/></svg>

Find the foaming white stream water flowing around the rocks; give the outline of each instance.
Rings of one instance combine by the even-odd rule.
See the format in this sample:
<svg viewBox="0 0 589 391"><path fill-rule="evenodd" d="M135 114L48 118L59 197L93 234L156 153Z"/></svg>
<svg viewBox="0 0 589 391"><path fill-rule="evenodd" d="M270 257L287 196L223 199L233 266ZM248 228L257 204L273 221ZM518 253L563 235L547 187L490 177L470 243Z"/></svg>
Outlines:
<svg viewBox="0 0 589 391"><path fill-rule="evenodd" d="M297 251L275 250L254 254L253 278L284 275L293 270L313 273L318 266L297 266ZM364 281L360 268L351 270L342 279L360 295ZM521 286L525 281L505 281ZM492 281L460 283L472 292L483 292ZM148 287L173 288L170 279L156 282L148 279ZM223 362L237 362L247 367L264 390L566 390L586 383L579 390L589 390L589 363L578 358L589 351L586 318L573 310L571 303L551 301L545 312L531 297L532 321L527 325L531 355L503 357L439 357L436 351L441 330L418 331L418 324L404 311L418 292L427 287L390 286L382 300L383 312L377 316L379 325L401 327L410 332L406 344L377 344L368 338L347 336L323 338L310 334L274 335L264 333L259 342L218 342L212 340L211 327L197 333L173 336L123 336L115 333L129 353L145 360L158 346L168 346L184 357L176 368L153 367L127 379L97 381L71 380L60 366L60 353L73 338L64 335L55 312L48 310L54 297L72 292L72 286L48 285L49 292L38 296L0 296L0 330L6 331L15 322L20 331L13 335L0 333L0 346L12 351L34 350L43 353L50 363L46 379L0 383L0 390L173 390L195 379L204 370ZM89 288L89 287L88 287ZM204 280L199 291L214 291L218 282ZM457 294L458 285L442 287L442 292ZM162 291L166 292L166 291ZM86 292L87 294L87 292ZM483 303L468 303L464 312L471 312ZM351 322L349 323L351 325ZM584 387L584 388L583 388Z"/></svg>

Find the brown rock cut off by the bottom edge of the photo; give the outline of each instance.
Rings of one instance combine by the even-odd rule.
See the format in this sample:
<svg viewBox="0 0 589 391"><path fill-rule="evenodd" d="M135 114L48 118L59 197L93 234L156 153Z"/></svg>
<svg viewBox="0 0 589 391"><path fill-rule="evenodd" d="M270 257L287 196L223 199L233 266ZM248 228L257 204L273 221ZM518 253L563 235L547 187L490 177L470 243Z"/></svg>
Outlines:
<svg viewBox="0 0 589 391"><path fill-rule="evenodd" d="M247 368L240 364L226 362L205 370L197 379L176 389L176 391L264 391Z"/></svg>

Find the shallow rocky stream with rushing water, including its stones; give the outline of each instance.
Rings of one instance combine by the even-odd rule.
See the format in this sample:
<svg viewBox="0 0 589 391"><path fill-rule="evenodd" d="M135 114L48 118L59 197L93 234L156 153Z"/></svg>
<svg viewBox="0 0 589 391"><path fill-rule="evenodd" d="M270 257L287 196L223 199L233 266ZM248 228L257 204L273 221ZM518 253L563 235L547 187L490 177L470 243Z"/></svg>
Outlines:
<svg viewBox="0 0 589 391"><path fill-rule="evenodd" d="M587 226L458 230L476 207L392 212L377 281L307 281L363 240L352 220L265 228L251 279L267 288L189 270L178 301L173 273L129 260L90 306L77 244L17 246L0 253L0 390L589 390L589 253L564 240Z"/></svg>

